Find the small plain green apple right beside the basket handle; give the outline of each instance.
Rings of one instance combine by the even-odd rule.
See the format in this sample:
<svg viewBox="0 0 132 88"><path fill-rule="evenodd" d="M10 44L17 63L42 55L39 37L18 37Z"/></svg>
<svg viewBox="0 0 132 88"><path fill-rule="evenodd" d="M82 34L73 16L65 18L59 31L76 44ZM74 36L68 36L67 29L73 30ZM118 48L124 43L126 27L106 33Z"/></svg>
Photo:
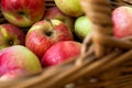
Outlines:
<svg viewBox="0 0 132 88"><path fill-rule="evenodd" d="M84 40L88 34L91 33L91 21L86 16L81 15L75 21L75 34Z"/></svg>

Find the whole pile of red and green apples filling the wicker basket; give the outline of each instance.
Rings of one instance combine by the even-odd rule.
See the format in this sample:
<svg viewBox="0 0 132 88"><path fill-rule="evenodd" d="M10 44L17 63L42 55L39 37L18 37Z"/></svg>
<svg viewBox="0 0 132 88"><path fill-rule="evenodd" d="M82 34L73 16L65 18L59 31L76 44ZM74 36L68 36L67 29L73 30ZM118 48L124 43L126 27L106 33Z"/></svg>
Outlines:
<svg viewBox="0 0 132 88"><path fill-rule="evenodd" d="M92 30L91 21L79 0L54 1L56 7L46 8L45 0L1 0L8 23L0 24L0 80L40 73L80 55L82 40ZM132 34L127 30L131 28L132 9L124 9L113 13L116 36L125 35L127 31ZM120 21L122 13L127 16Z"/></svg>

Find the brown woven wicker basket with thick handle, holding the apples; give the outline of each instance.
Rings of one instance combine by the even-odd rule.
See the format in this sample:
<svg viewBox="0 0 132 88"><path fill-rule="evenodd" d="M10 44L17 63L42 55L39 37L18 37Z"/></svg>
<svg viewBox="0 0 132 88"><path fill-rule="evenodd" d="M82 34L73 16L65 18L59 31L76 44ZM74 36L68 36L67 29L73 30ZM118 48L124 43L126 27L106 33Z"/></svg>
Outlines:
<svg viewBox="0 0 132 88"><path fill-rule="evenodd" d="M92 21L94 32L82 42L80 56L42 73L12 81L0 88L131 88L131 37L112 36L112 9L131 6L131 0L80 0L84 12ZM46 0L53 7L53 0ZM92 45L90 45L92 43Z"/></svg>

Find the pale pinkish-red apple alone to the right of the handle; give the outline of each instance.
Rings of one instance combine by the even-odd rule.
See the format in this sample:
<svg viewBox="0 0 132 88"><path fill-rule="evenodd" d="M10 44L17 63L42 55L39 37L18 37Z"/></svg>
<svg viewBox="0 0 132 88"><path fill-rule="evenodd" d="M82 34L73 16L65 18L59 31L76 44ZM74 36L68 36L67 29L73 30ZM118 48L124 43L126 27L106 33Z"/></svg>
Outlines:
<svg viewBox="0 0 132 88"><path fill-rule="evenodd" d="M132 8L119 7L112 11L113 35L118 38L132 35Z"/></svg>

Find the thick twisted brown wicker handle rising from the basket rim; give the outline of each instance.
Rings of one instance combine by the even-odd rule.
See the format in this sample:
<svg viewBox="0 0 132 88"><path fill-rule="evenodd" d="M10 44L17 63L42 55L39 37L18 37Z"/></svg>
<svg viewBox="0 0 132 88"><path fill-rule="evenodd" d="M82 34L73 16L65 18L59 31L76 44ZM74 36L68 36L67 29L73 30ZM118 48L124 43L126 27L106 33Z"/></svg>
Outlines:
<svg viewBox="0 0 132 88"><path fill-rule="evenodd" d="M97 40L98 34L112 35L111 4L108 0L80 0L87 18L92 21L92 42L98 57L106 55L108 47Z"/></svg>

